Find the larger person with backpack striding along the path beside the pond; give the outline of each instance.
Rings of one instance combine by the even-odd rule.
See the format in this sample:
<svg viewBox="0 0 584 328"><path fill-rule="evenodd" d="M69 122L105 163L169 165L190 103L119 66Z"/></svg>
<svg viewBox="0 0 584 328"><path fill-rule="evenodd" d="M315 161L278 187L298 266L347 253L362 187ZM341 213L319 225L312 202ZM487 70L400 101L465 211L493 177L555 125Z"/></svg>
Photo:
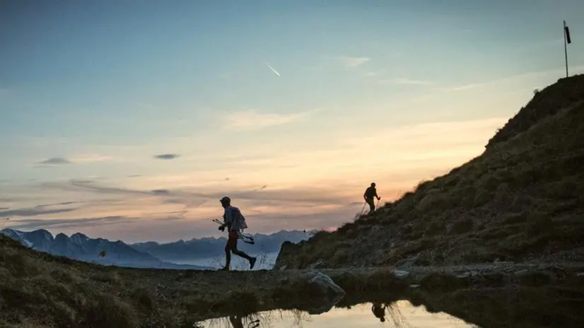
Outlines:
<svg viewBox="0 0 584 328"><path fill-rule="evenodd" d="M219 201L221 202L223 209L225 209L225 213L223 213L223 224L219 225L219 230L224 231L225 227L227 227L229 232L227 244L225 245L226 264L222 270L229 270L231 253L250 261L250 269L253 269L256 258L250 257L250 255L238 250L239 232L241 229L247 228L245 218L237 207L231 206L231 199L229 197L223 197Z"/></svg>

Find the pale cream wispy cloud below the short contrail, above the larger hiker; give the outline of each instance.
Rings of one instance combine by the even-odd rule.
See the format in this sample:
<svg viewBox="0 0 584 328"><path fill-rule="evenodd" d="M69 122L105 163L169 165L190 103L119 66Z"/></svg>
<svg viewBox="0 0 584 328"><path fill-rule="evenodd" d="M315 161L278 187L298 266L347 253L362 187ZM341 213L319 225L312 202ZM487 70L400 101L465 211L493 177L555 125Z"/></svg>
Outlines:
<svg viewBox="0 0 584 328"><path fill-rule="evenodd" d="M314 110L293 114L262 113L257 110L233 112L226 117L227 128L237 130L261 129L276 125L288 124L303 119Z"/></svg>

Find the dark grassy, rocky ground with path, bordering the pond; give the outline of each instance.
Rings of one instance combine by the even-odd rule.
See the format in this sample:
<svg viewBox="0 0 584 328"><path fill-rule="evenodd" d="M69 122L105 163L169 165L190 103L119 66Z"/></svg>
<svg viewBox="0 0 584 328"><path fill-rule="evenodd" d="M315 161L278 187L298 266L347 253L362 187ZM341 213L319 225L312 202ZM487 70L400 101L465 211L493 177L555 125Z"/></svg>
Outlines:
<svg viewBox="0 0 584 328"><path fill-rule="evenodd" d="M567 263L562 268L491 263L231 272L124 269L52 257L2 236L0 323L2 327L193 327L200 320L234 313L273 309L318 313L335 304L373 298L418 297L419 302L440 308L448 302L438 296L458 292L452 297L462 297L461 291L479 288L491 292L501 288L501 293L522 286L539 290L570 286L574 295L584 295L583 273L584 266Z"/></svg>

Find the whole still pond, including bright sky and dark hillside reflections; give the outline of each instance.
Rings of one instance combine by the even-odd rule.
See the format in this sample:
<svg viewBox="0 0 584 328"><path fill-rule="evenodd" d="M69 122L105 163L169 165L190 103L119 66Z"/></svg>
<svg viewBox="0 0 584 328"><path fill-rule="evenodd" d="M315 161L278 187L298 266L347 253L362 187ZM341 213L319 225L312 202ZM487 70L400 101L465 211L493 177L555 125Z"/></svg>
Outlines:
<svg viewBox="0 0 584 328"><path fill-rule="evenodd" d="M584 292L576 281L451 291L430 291L431 287L414 286L395 294L349 294L328 306L307 300L250 314L234 307L232 315L198 322L198 327L584 327L580 315Z"/></svg>

